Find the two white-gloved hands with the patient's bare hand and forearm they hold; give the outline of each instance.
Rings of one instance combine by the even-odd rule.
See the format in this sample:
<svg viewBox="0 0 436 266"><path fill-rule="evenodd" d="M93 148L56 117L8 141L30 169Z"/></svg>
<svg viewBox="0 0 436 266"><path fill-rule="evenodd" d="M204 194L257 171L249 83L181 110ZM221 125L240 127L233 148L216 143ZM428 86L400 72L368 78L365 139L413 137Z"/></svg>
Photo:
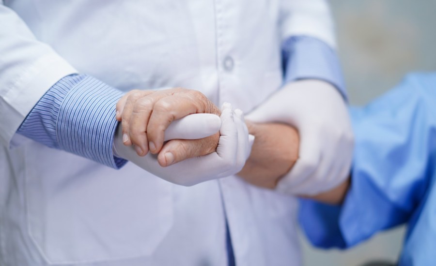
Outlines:
<svg viewBox="0 0 436 266"><path fill-rule="evenodd" d="M220 115L219 133L164 143L172 121L196 113ZM327 82L289 83L248 118L252 122L245 122L242 111L233 111L230 104L220 112L195 90L134 90L117 104L122 124L114 150L182 185L238 174L260 187L314 196L347 180L353 152L351 123L342 96ZM254 144L249 133L256 137Z"/></svg>

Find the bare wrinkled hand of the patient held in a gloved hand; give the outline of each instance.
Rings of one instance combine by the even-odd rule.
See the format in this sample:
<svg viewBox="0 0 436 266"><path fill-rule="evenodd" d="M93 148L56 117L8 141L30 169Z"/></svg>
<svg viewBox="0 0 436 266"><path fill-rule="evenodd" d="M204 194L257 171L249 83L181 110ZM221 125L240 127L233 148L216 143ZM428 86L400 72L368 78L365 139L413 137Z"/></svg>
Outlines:
<svg viewBox="0 0 436 266"><path fill-rule="evenodd" d="M161 166L206 155L217 148L219 133L198 140L171 140L164 146L165 130L173 120L196 113L220 115L218 107L197 90L132 90L118 101L116 109L116 118L122 121L124 145L134 145L139 156L149 151L158 153Z"/></svg>

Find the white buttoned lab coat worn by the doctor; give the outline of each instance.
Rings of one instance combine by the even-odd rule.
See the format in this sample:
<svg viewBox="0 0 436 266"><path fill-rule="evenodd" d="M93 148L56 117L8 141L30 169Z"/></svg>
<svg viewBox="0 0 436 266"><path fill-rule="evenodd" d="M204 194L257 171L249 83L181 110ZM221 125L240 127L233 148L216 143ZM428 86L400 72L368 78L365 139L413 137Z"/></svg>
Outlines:
<svg viewBox="0 0 436 266"><path fill-rule="evenodd" d="M0 1L1 2L1 1ZM15 134L67 74L180 86L248 112L282 81L280 43L334 45L324 0L11 0L0 5L0 265L299 265L296 201L237 177L182 187Z"/></svg>

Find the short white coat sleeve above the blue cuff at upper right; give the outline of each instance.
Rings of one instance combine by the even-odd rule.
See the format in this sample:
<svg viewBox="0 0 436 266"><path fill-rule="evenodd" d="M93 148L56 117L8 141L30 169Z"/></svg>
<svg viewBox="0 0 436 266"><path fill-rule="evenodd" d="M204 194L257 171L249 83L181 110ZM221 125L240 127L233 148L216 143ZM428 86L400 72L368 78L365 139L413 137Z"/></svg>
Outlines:
<svg viewBox="0 0 436 266"><path fill-rule="evenodd" d="M279 19L282 42L291 36L311 36L336 48L327 0L280 0Z"/></svg>

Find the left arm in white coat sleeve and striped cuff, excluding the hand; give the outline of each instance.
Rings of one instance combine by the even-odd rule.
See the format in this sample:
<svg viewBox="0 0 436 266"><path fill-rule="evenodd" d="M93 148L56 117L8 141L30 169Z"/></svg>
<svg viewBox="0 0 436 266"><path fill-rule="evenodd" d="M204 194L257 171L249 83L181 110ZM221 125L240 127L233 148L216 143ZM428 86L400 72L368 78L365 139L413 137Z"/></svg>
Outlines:
<svg viewBox="0 0 436 266"><path fill-rule="evenodd" d="M77 71L3 4L0 24L8 25L0 27L1 144L9 147L21 125L20 134L42 144L110 167L123 165L112 156L111 142L122 93L93 77L71 76Z"/></svg>

